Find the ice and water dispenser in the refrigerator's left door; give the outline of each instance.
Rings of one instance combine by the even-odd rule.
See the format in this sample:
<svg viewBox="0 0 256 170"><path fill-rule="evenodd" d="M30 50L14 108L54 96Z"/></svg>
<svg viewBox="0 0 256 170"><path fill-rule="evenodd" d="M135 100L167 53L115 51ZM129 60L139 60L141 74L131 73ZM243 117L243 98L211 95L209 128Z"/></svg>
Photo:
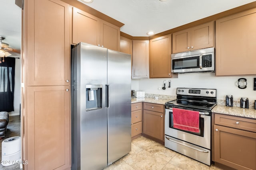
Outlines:
<svg viewBox="0 0 256 170"><path fill-rule="evenodd" d="M102 84L86 84L86 111L102 108Z"/></svg>

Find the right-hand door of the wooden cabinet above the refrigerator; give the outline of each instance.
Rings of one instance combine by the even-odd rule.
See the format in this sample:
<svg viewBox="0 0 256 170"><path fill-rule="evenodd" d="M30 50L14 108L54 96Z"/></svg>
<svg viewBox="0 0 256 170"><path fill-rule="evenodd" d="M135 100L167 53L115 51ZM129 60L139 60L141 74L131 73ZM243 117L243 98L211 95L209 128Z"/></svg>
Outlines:
<svg viewBox="0 0 256 170"><path fill-rule="evenodd" d="M101 20L100 30L100 46L120 51L120 28Z"/></svg>

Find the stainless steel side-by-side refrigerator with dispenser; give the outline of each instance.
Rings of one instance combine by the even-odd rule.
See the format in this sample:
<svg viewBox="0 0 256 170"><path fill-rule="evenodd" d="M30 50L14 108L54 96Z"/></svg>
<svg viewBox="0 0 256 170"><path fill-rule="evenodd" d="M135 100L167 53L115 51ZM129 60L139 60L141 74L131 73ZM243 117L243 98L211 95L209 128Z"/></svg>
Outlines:
<svg viewBox="0 0 256 170"><path fill-rule="evenodd" d="M72 170L100 170L131 151L131 56L72 49Z"/></svg>

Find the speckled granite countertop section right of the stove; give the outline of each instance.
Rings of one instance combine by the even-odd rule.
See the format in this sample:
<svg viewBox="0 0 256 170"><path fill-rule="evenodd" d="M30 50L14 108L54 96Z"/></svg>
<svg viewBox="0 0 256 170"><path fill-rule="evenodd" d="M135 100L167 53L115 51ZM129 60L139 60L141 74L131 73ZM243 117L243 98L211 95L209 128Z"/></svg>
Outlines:
<svg viewBox="0 0 256 170"><path fill-rule="evenodd" d="M212 109L212 112L256 119L256 109L243 109L240 107L217 105Z"/></svg>

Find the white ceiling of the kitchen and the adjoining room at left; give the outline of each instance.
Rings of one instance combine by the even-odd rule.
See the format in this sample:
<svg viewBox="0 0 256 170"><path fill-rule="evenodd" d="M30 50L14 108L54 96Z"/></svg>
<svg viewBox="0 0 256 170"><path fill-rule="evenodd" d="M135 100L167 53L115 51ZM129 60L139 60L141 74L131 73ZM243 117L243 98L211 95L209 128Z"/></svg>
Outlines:
<svg viewBox="0 0 256 170"><path fill-rule="evenodd" d="M122 32L144 37L148 31L160 33L250 2L254 0L94 0L86 5L124 23ZM3 42L20 49L21 9L15 0L0 0L0 6Z"/></svg>

